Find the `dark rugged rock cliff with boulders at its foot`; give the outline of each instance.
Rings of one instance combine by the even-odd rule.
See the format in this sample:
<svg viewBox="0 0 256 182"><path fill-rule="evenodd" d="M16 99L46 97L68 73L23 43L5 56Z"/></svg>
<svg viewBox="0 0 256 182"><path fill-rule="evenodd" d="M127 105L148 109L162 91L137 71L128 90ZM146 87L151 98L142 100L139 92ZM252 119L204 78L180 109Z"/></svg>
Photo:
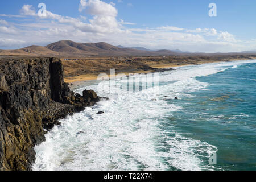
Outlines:
<svg viewBox="0 0 256 182"><path fill-rule="evenodd" d="M102 99L71 92L63 74L55 57L0 60L0 170L30 170L44 129Z"/></svg>

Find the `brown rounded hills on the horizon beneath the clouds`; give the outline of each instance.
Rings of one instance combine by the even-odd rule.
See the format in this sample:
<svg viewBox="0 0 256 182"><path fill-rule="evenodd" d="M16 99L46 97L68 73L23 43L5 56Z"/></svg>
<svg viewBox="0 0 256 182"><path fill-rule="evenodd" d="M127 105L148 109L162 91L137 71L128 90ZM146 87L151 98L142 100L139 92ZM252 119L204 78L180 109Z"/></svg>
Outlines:
<svg viewBox="0 0 256 182"><path fill-rule="evenodd" d="M168 50L144 51L133 48L120 48L105 42L77 43L71 40L61 40L43 46L28 46L16 50L3 50L0 55L44 55L44 56L162 56L176 55Z"/></svg>

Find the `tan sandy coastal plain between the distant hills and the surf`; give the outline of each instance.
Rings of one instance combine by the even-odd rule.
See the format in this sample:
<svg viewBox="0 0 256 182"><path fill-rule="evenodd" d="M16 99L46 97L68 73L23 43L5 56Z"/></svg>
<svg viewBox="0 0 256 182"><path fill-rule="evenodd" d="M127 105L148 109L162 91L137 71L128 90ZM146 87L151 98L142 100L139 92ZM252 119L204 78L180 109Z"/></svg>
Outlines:
<svg viewBox="0 0 256 182"><path fill-rule="evenodd" d="M176 68L188 65L199 65L207 63L221 63L238 60L256 59L256 56L223 56L223 57L133 57L129 61L120 61L119 58L110 59L84 58L83 60L62 61L64 65L64 81L74 85L77 82L96 81L98 75L105 73L110 75L110 69L115 68L115 73L152 73L164 71L167 68Z"/></svg>

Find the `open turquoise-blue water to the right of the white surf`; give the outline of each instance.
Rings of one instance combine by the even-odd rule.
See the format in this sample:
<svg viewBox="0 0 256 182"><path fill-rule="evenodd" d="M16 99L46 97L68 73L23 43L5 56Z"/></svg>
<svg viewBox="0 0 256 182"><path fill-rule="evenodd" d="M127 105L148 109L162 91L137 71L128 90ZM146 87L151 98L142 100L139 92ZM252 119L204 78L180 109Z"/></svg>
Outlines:
<svg viewBox="0 0 256 182"><path fill-rule="evenodd" d="M229 67L223 67L229 68ZM237 65L213 75L196 77L208 83L175 101L182 110L167 118L185 137L217 147L216 168L256 169L256 64ZM172 103L173 101L170 101ZM207 161L206 161L207 163Z"/></svg>

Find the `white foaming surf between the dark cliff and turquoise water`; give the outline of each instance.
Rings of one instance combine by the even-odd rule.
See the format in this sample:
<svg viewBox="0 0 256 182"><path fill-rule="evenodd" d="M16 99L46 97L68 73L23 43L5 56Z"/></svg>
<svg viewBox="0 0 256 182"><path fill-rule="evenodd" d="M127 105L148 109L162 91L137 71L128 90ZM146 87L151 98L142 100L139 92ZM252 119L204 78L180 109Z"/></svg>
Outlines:
<svg viewBox="0 0 256 182"><path fill-rule="evenodd" d="M196 77L212 75L224 69L236 68L241 61L179 67L159 75L159 97L155 88L127 92L115 88L104 94L98 85L76 90L93 89L109 101L88 107L81 113L61 119L46 134L46 142L35 147L35 170L201 170L213 169L205 161L217 147L207 142L186 138L175 125L164 123L171 111L182 107L168 104L164 96L188 97L188 92L208 86ZM135 79L136 80L136 79ZM137 80L138 81L138 80ZM143 80L141 80L143 81ZM117 80L117 82L122 82ZM102 84L109 85L108 81ZM110 85L115 86L115 85ZM104 111L105 114L96 114ZM168 129L161 127L168 126ZM82 131L82 132L81 132Z"/></svg>

